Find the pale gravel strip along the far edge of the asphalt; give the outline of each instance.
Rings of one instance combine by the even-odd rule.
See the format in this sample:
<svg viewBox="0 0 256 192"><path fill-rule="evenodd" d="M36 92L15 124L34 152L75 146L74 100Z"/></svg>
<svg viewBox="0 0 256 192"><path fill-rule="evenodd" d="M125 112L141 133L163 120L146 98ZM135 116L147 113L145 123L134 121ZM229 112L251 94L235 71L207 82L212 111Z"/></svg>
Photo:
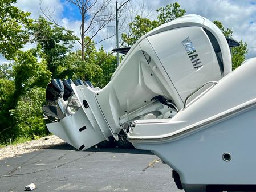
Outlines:
<svg viewBox="0 0 256 192"><path fill-rule="evenodd" d="M63 143L64 141L57 136L46 136L39 140L27 141L23 144L9 145L4 148L0 148L0 160L19 156L24 153L34 152L35 150L48 148L54 145L61 145Z"/></svg>

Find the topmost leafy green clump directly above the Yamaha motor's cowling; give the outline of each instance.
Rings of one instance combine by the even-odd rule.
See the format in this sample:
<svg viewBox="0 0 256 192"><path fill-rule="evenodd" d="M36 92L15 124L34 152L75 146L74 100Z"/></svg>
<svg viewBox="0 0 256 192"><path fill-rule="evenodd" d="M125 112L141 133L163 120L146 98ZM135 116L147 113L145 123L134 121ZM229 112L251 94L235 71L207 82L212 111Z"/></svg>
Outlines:
<svg viewBox="0 0 256 192"><path fill-rule="evenodd" d="M166 7L160 7L156 10L157 21L159 25L170 22L178 17L183 16L186 13L185 9L181 9L180 4L177 2L166 5Z"/></svg>

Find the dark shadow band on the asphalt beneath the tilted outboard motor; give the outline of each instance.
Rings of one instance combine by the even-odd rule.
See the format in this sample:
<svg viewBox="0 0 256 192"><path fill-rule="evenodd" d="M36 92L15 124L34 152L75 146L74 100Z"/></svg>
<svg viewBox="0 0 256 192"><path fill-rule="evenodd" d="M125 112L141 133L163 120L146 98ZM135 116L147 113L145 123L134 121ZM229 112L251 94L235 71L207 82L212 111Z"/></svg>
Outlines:
<svg viewBox="0 0 256 192"><path fill-rule="evenodd" d="M54 150L75 150L70 144L64 143L62 145L55 145L50 146L46 149L54 149ZM152 155L153 153L149 150L139 150L139 149L121 149L121 148L95 148L94 146L85 150L86 152L109 152L109 153L130 153L130 154L149 154ZM82 153L82 152L81 152Z"/></svg>

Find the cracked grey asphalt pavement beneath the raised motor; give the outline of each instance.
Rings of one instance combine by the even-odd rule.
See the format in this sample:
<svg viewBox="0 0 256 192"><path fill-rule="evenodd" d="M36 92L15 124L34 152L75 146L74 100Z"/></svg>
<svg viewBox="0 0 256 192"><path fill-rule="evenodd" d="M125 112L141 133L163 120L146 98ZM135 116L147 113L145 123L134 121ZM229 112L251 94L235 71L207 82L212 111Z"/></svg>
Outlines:
<svg viewBox="0 0 256 192"><path fill-rule="evenodd" d="M151 152L68 144L0 160L0 191L173 191L172 169Z"/></svg>

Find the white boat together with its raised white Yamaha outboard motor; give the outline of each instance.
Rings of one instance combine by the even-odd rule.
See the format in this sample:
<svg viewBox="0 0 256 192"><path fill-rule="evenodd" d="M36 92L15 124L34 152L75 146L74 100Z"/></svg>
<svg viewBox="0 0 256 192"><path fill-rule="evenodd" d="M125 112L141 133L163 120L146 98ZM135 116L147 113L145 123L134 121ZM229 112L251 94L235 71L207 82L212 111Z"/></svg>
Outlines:
<svg viewBox="0 0 256 192"><path fill-rule="evenodd" d="M234 45L198 15L163 24L131 47L103 89L71 83L64 101L53 80L54 107L43 109L56 122L47 128L79 150L129 130L186 192L253 187L256 59L231 72Z"/></svg>

